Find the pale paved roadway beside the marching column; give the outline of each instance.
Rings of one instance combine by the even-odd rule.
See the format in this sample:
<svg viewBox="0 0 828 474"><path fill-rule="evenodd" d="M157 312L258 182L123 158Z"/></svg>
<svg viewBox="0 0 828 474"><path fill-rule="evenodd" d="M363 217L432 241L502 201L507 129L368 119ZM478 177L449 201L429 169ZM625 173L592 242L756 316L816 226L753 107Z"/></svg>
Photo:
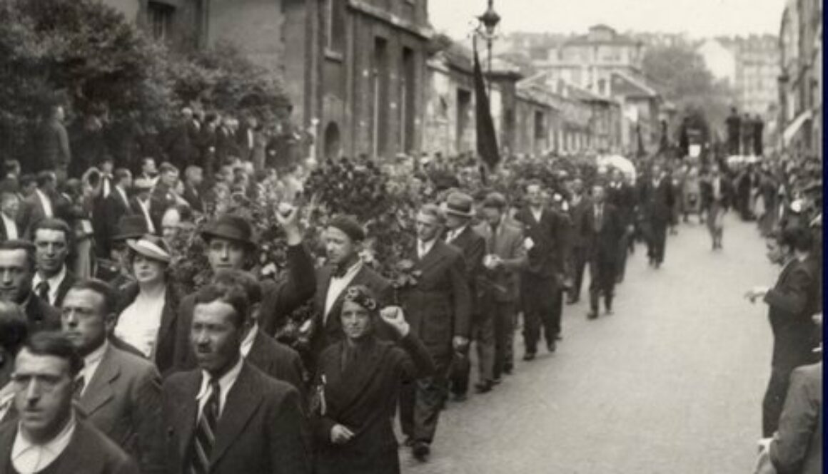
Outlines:
<svg viewBox="0 0 828 474"><path fill-rule="evenodd" d="M636 247L615 314L566 306L554 355L521 361L518 333L515 374L450 402L431 461L402 449L403 472L753 472L771 333L764 305L742 295L777 270L752 223L725 223L719 252L706 227L681 225L660 270Z"/></svg>

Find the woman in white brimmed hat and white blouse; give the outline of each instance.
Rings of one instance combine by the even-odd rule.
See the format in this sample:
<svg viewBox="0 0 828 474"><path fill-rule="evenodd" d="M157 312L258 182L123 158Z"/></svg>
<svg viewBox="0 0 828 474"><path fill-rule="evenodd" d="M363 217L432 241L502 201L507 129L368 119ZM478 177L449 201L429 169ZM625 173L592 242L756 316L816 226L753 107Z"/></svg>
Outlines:
<svg viewBox="0 0 828 474"><path fill-rule="evenodd" d="M127 245L135 284L125 290L126 305L118 316L115 335L164 373L174 365L178 308L175 285L167 275L170 250L161 237L150 234Z"/></svg>

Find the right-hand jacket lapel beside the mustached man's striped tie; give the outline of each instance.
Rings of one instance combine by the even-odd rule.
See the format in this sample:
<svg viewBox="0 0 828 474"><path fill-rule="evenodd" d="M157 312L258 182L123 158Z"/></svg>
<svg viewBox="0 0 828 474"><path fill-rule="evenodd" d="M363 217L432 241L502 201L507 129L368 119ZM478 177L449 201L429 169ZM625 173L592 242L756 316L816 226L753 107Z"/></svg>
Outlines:
<svg viewBox="0 0 828 474"><path fill-rule="evenodd" d="M262 401L260 387L253 383L253 372L247 362L242 362L242 371L224 403L224 411L216 428L215 444L210 453L210 464L215 464L238 438L253 413Z"/></svg>

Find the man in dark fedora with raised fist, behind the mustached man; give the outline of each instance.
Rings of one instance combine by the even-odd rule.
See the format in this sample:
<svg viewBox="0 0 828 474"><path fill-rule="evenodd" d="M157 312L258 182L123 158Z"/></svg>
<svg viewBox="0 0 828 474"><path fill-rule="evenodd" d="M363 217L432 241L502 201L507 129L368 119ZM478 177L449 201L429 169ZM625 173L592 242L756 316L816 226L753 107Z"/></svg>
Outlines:
<svg viewBox="0 0 828 474"><path fill-rule="evenodd" d="M313 260L302 242L299 228L299 209L277 212L276 218L286 235L288 274L279 283L262 281L263 299L258 318L261 330L272 337L282 328L287 315L310 299L316 290ZM207 243L207 259L214 273L220 270L250 270L249 263L258 243L253 235L253 225L247 219L223 214L206 225L201 237ZM193 320L194 304L195 294L181 300L178 323L182 327L177 332L181 340L176 342L181 343L181 347L190 347L187 335ZM195 367L195 354L191 349L184 351L183 357L174 363L178 368L191 369Z"/></svg>

